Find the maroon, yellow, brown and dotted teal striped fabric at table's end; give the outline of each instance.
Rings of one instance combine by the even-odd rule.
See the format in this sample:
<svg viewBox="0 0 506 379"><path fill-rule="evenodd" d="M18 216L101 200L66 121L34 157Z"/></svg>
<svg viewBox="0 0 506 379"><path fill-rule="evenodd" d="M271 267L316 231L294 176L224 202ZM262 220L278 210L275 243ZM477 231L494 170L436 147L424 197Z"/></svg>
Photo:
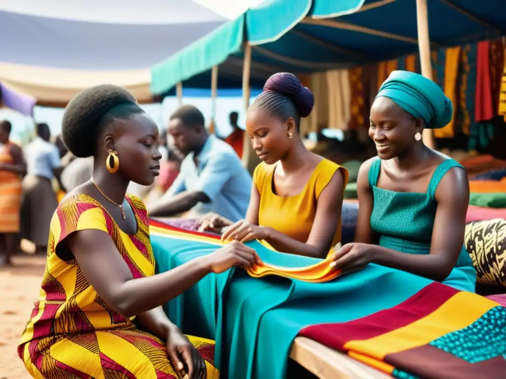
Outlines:
<svg viewBox="0 0 506 379"><path fill-rule="evenodd" d="M506 308L436 282L390 309L312 325L299 335L399 378L497 378L506 372Z"/></svg>

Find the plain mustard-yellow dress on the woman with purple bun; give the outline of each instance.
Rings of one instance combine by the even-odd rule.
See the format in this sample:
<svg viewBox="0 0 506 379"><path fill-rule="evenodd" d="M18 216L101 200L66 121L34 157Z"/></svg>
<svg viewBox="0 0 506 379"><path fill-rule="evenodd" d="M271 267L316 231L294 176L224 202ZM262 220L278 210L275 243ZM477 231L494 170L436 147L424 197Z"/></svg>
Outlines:
<svg viewBox="0 0 506 379"><path fill-rule="evenodd" d="M259 225L271 227L294 240L306 243L313 227L318 197L323 188L337 170L342 171L346 188L348 170L328 159L322 159L300 194L277 196L272 192L275 168L275 164L267 165L262 162L253 173L253 180L260 193ZM341 218L332 239L332 246L340 241Z"/></svg>

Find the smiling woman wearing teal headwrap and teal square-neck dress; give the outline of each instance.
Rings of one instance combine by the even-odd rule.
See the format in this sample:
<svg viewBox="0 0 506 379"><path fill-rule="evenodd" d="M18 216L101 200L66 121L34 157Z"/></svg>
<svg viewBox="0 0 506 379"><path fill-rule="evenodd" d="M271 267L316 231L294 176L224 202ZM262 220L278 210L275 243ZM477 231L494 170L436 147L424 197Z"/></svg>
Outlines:
<svg viewBox="0 0 506 379"><path fill-rule="evenodd" d="M463 246L469 181L456 161L424 145L424 128L451 120L451 101L419 74L394 71L370 110L378 156L360 167L355 243L334 255L345 271L367 263L408 271L475 291L476 271Z"/></svg>

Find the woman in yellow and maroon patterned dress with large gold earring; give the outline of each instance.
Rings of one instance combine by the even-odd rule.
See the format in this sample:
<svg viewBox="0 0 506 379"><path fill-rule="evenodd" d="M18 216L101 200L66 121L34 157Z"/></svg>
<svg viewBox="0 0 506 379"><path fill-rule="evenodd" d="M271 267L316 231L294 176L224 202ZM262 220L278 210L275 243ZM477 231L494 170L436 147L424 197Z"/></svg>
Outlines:
<svg viewBox="0 0 506 379"><path fill-rule="evenodd" d="M218 378L214 342L184 336L161 305L209 272L259 262L236 242L155 275L142 201L131 181L159 174L158 127L133 95L88 88L68 104L63 141L93 156L92 178L74 188L51 220L44 279L18 347L33 377Z"/></svg>

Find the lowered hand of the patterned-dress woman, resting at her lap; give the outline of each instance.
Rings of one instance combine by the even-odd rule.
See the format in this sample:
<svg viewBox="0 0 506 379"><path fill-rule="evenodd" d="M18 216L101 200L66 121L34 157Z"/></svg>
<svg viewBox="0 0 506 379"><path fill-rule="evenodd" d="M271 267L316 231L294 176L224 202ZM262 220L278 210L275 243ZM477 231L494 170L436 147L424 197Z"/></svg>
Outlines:
<svg viewBox="0 0 506 379"><path fill-rule="evenodd" d="M167 337L167 356L175 370L188 379L205 379L205 361L190 340L178 328L171 328Z"/></svg>

